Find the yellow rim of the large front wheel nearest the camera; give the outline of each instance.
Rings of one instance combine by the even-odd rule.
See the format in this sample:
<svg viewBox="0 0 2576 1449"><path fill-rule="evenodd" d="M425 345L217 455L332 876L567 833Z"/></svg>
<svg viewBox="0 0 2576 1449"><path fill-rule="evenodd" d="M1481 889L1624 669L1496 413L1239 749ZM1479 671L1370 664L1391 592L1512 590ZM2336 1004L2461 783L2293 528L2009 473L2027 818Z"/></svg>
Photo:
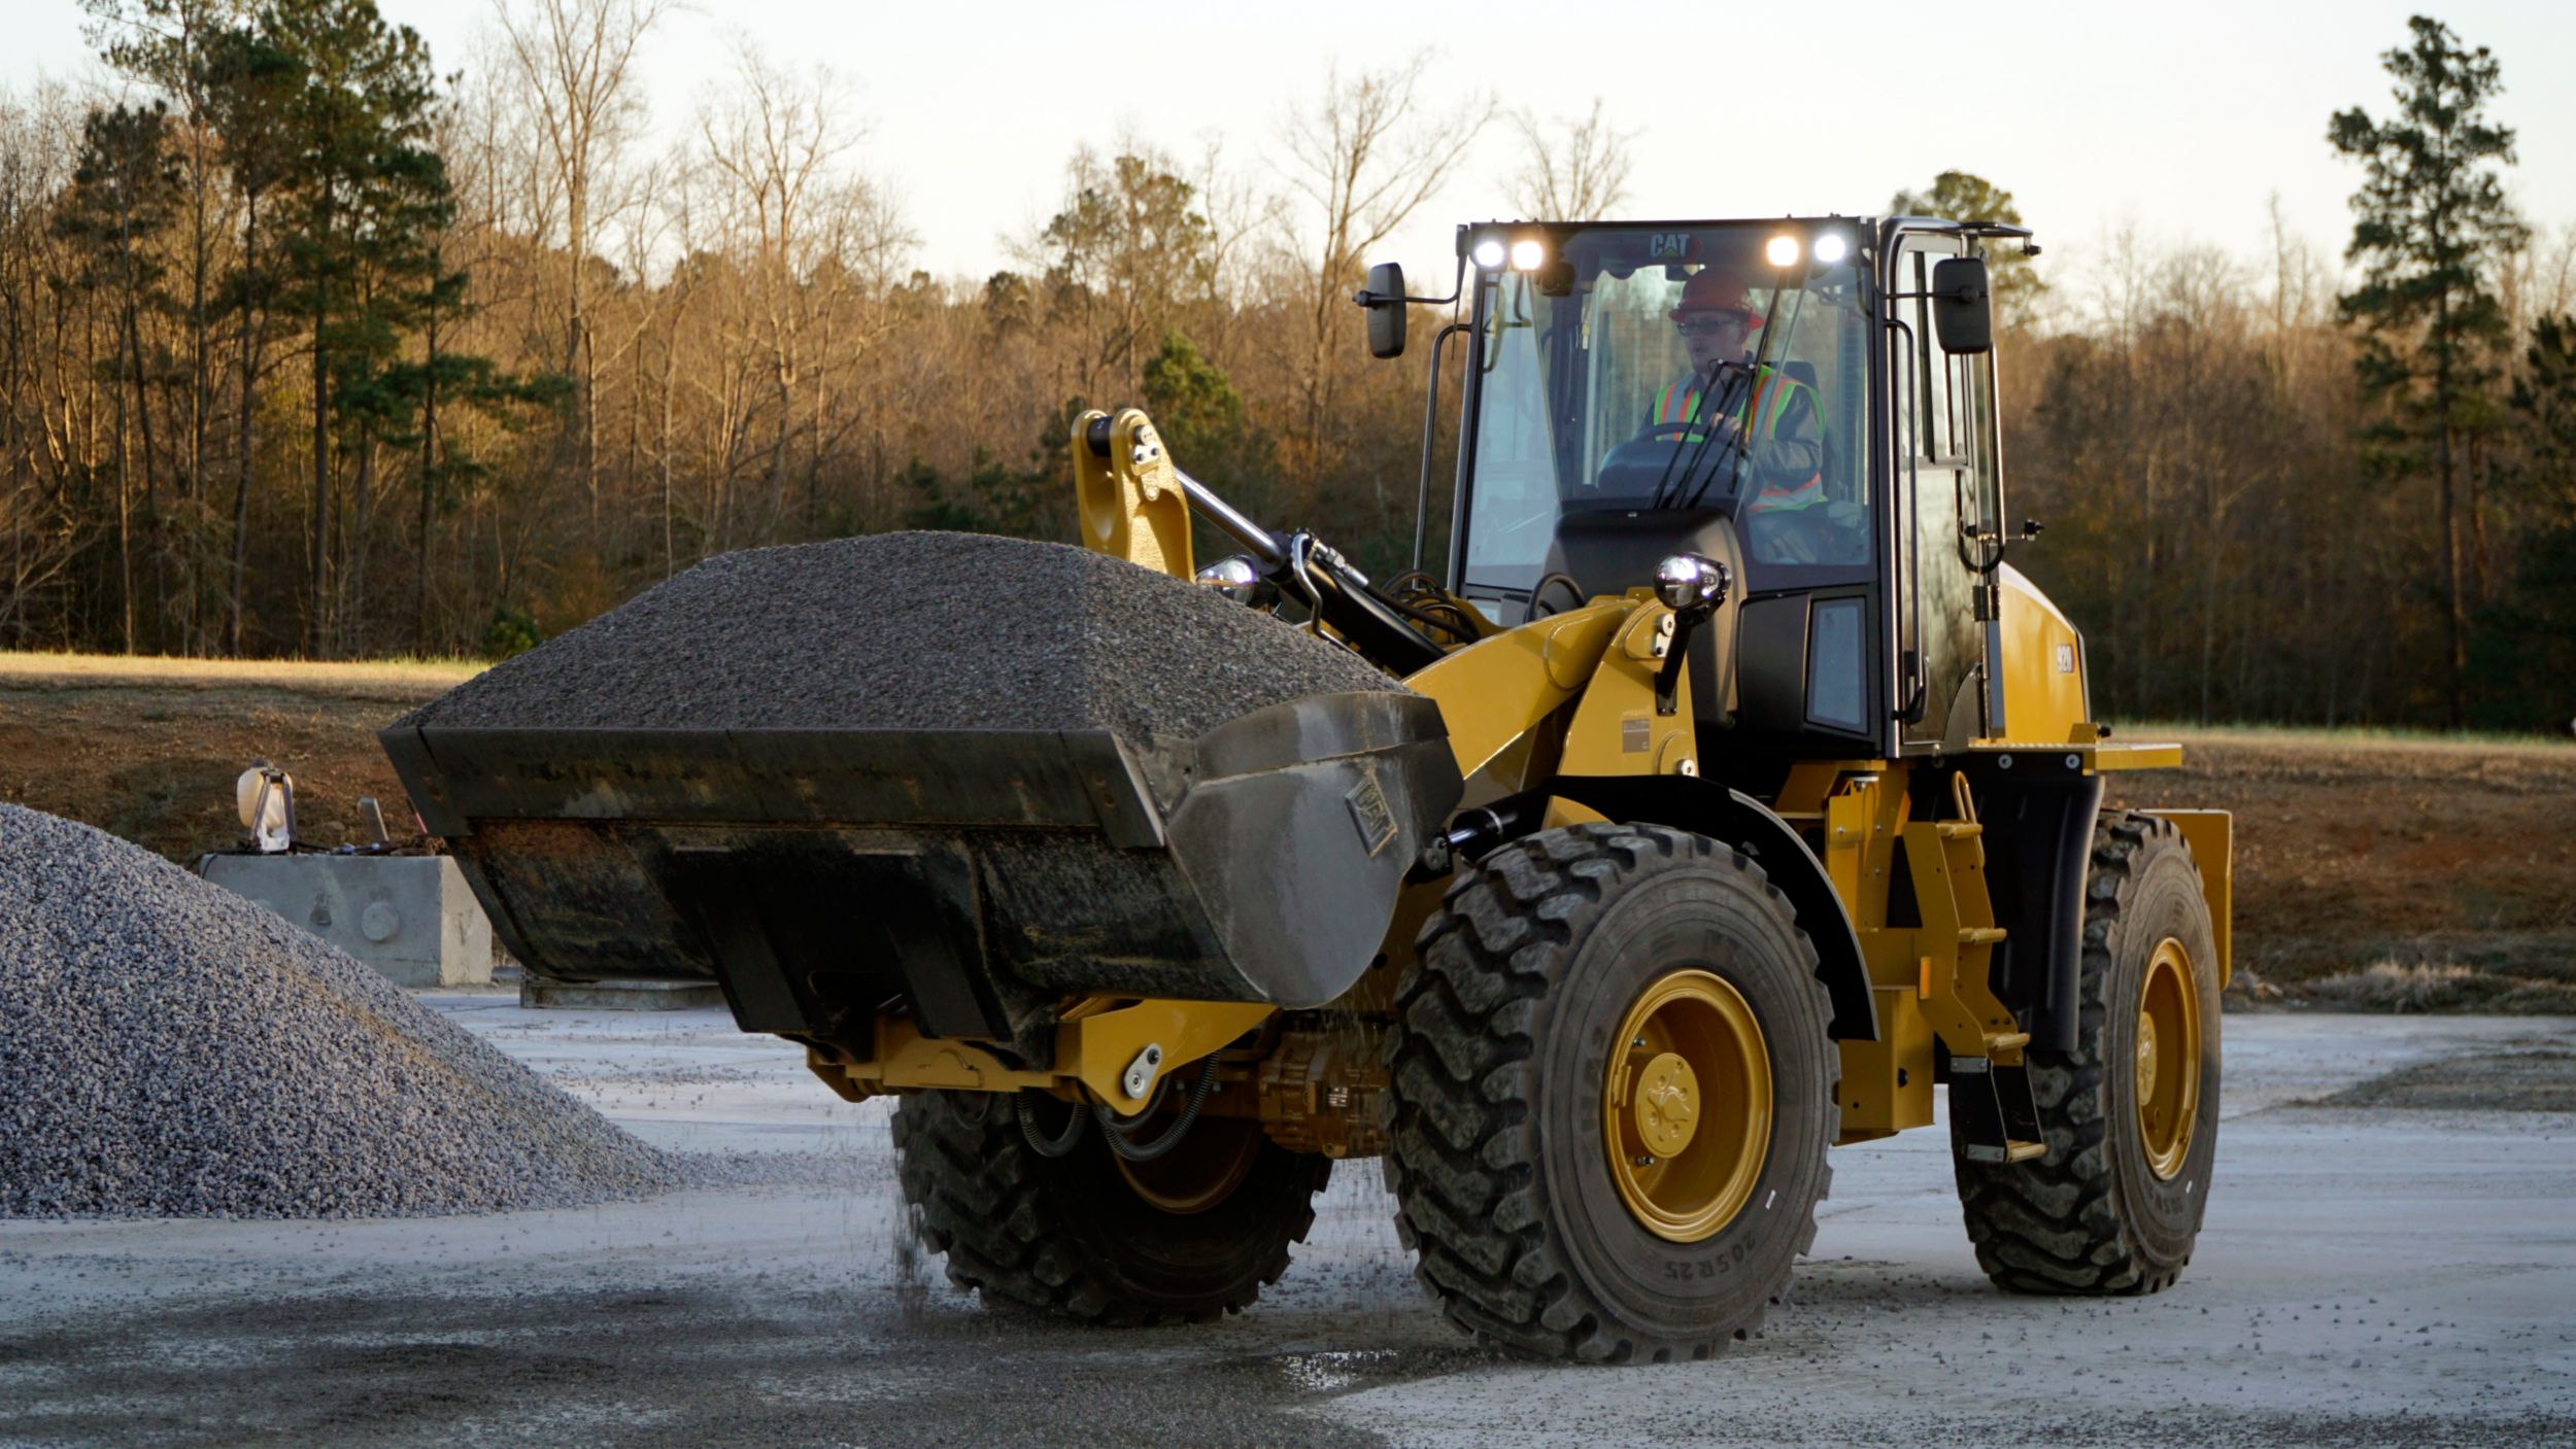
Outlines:
<svg viewBox="0 0 2576 1449"><path fill-rule="evenodd" d="M1649 1233L1698 1243L1734 1223L1762 1176L1770 1120L1770 1050L1744 993L1674 970L1628 1006L1602 1081L1602 1143Z"/></svg>

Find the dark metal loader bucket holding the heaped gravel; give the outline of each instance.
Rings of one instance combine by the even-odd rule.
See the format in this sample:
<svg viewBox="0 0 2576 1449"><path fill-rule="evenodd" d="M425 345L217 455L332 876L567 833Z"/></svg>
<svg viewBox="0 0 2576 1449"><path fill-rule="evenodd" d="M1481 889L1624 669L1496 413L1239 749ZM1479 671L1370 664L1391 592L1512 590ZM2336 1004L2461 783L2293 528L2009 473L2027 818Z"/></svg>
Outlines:
<svg viewBox="0 0 2576 1449"><path fill-rule="evenodd" d="M495 932L556 981L716 978L744 1029L907 1001L1043 1060L1072 993L1319 1006L1455 806L1432 700L1105 728L500 728L384 752Z"/></svg>

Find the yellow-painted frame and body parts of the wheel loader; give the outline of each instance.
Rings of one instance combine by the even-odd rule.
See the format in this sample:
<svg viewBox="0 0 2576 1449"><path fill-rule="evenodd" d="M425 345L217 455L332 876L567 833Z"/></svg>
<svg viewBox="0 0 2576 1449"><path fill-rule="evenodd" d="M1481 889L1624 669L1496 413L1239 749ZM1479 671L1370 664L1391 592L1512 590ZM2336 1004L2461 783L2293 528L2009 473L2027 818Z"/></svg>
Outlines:
<svg viewBox="0 0 2576 1449"><path fill-rule="evenodd" d="M1074 422L1077 504L1082 540L1146 569L1190 577L1190 515L1144 412L1110 417L1110 456L1084 445L1092 422ZM2084 641L2048 597L2014 569L1996 579L1989 664L1994 739L1976 754L2066 752L2092 772L2182 764L2177 744L2110 744L2092 723ZM1463 605L1461 605L1463 607ZM1453 646L1406 685L1443 705L1458 775L1471 800L1517 793L1556 775L1695 775L1698 728L1687 677L1674 708L1656 708L1654 679L1674 638L1674 615L1651 589L1597 597L1582 607L1530 620ZM1953 1055L2017 1063L2027 1037L1989 986L1989 960L2004 939L1986 893L1984 826L1963 775L1935 818L1914 818L1914 762L1795 762L1775 800L1793 826L1821 839L1819 857L1860 939L1875 1042L1842 1048L1842 1140L1886 1138L1932 1122L1935 1042ZM2226 811L2154 811L2182 829L2200 862L2202 891L2218 927L2221 981L2231 970L2231 821ZM1548 824L1597 818L1569 800L1551 800ZM1919 911L1917 927L1888 924L1899 844ZM1345 1006L1383 1009L1394 970L1412 960L1412 937L1437 903L1440 883L1399 896L1381 970L1363 975ZM1167 1001L1095 996L1064 1011L1056 1066L1005 1066L987 1045L933 1040L909 1019L878 1019L871 1060L809 1048L814 1071L842 1096L886 1089L966 1089L1056 1094L1136 1109L1151 1096L1126 1091L1128 1066L1146 1045L1162 1048L1151 1076L1170 1076L1221 1050L1275 1014L1247 1001Z"/></svg>

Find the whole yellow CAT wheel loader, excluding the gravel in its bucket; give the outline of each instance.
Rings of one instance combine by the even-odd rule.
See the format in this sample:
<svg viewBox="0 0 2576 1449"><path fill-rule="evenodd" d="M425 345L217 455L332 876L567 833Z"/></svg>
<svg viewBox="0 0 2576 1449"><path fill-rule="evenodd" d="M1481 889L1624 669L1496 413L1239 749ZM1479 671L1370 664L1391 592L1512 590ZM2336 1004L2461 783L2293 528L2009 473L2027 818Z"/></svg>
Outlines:
<svg viewBox="0 0 2576 1449"><path fill-rule="evenodd" d="M2007 561L1994 245L2027 234L1481 224L1448 299L1376 268L1378 355L1453 306L1432 409L1463 350L1437 577L1419 520L1378 584L1141 412L1074 427L1082 543L1383 690L1185 741L384 744L531 970L711 975L899 1094L917 1223L999 1300L1239 1310L1376 1156L1461 1328L1705 1356L1811 1248L1829 1148L1942 1086L1996 1284L2156 1292L2210 1192L2228 816L2102 808L2182 752L2110 739ZM1200 569L1193 515L1242 553Z"/></svg>

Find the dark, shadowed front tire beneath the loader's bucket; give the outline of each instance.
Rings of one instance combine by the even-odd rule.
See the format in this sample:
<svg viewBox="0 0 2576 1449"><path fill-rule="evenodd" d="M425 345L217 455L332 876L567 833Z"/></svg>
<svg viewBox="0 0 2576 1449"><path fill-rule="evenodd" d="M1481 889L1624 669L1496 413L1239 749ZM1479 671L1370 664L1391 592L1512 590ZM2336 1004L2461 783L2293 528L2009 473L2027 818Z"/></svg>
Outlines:
<svg viewBox="0 0 2576 1449"><path fill-rule="evenodd" d="M1157 1163L1121 1163L1097 1125L1072 1156L1043 1158L1012 1099L987 1091L904 1096L894 1150L922 1243L948 1256L948 1282L1097 1325L1249 1307L1288 1271L1288 1246L1306 1238L1332 1174L1329 1158L1288 1153L1257 1122L1224 1117L1200 1120ZM1206 1192L1185 1181L1193 1150L1208 1163Z"/></svg>

